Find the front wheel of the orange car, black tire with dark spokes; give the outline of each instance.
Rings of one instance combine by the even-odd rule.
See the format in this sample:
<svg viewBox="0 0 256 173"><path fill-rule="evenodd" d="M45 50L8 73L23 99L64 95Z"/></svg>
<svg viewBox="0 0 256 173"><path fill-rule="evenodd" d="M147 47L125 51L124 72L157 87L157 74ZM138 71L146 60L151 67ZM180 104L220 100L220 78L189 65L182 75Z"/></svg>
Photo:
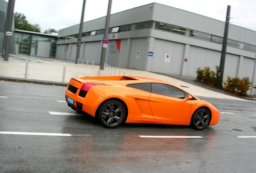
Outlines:
<svg viewBox="0 0 256 173"><path fill-rule="evenodd" d="M202 107L196 109L193 113L190 125L193 129L202 130L209 125L211 121L211 113L208 109Z"/></svg>

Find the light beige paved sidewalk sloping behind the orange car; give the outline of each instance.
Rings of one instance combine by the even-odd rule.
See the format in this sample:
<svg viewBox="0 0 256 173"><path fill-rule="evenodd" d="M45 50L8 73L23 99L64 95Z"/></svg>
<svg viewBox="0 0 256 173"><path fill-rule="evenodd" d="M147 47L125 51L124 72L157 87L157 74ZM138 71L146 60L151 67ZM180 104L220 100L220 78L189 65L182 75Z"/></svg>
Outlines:
<svg viewBox="0 0 256 173"><path fill-rule="evenodd" d="M27 69L27 72L26 72ZM185 76L156 74L142 70L133 70L119 67L105 67L99 70L99 65L75 64L74 62L64 62L51 58L37 58L33 56L10 55L8 61L0 57L0 78L14 80L40 80L52 84L68 84L71 77L79 76L109 76L109 75L136 75L149 76L171 82L182 86L186 91L200 97L213 97L221 99L243 100L237 97L226 95L221 91L214 91L200 86L195 82L185 82L194 80L194 78ZM178 78L178 79L177 79ZM184 80L183 80L184 79Z"/></svg>

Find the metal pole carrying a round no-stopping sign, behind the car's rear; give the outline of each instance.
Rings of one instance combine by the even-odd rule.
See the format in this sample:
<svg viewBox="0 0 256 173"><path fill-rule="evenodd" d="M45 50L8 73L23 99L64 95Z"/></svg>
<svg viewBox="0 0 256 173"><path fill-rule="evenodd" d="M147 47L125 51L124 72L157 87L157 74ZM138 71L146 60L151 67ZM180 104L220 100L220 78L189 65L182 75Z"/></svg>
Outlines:
<svg viewBox="0 0 256 173"><path fill-rule="evenodd" d="M108 1L108 8L107 8L106 23L105 23L104 40L107 39L107 37L108 37L111 5L112 5L112 0L109 0L109 1ZM106 57L106 51L107 51L107 47L102 47L102 50L101 50L100 70L104 70L104 62L105 62L105 57Z"/></svg>

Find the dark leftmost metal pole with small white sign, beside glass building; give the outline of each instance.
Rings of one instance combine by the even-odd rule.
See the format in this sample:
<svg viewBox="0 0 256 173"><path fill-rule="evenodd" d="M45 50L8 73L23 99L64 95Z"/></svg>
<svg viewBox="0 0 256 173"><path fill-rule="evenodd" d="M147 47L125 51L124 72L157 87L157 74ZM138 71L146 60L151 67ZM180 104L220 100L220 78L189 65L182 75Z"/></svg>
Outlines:
<svg viewBox="0 0 256 173"><path fill-rule="evenodd" d="M12 36L12 19L13 19L14 4L15 4L15 0L9 0L6 22L5 22L4 46L3 46L3 54L2 54L5 61L8 61L9 51L10 51L10 38Z"/></svg>

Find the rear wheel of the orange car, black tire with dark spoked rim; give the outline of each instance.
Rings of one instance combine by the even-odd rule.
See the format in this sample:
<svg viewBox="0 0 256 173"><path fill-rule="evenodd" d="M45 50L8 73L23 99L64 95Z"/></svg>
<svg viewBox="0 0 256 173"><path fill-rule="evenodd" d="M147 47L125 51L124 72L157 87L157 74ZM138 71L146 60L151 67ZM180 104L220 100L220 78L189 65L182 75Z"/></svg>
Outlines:
<svg viewBox="0 0 256 173"><path fill-rule="evenodd" d="M126 109L116 100L107 101L99 109L99 123L108 129L114 129L124 123Z"/></svg>

